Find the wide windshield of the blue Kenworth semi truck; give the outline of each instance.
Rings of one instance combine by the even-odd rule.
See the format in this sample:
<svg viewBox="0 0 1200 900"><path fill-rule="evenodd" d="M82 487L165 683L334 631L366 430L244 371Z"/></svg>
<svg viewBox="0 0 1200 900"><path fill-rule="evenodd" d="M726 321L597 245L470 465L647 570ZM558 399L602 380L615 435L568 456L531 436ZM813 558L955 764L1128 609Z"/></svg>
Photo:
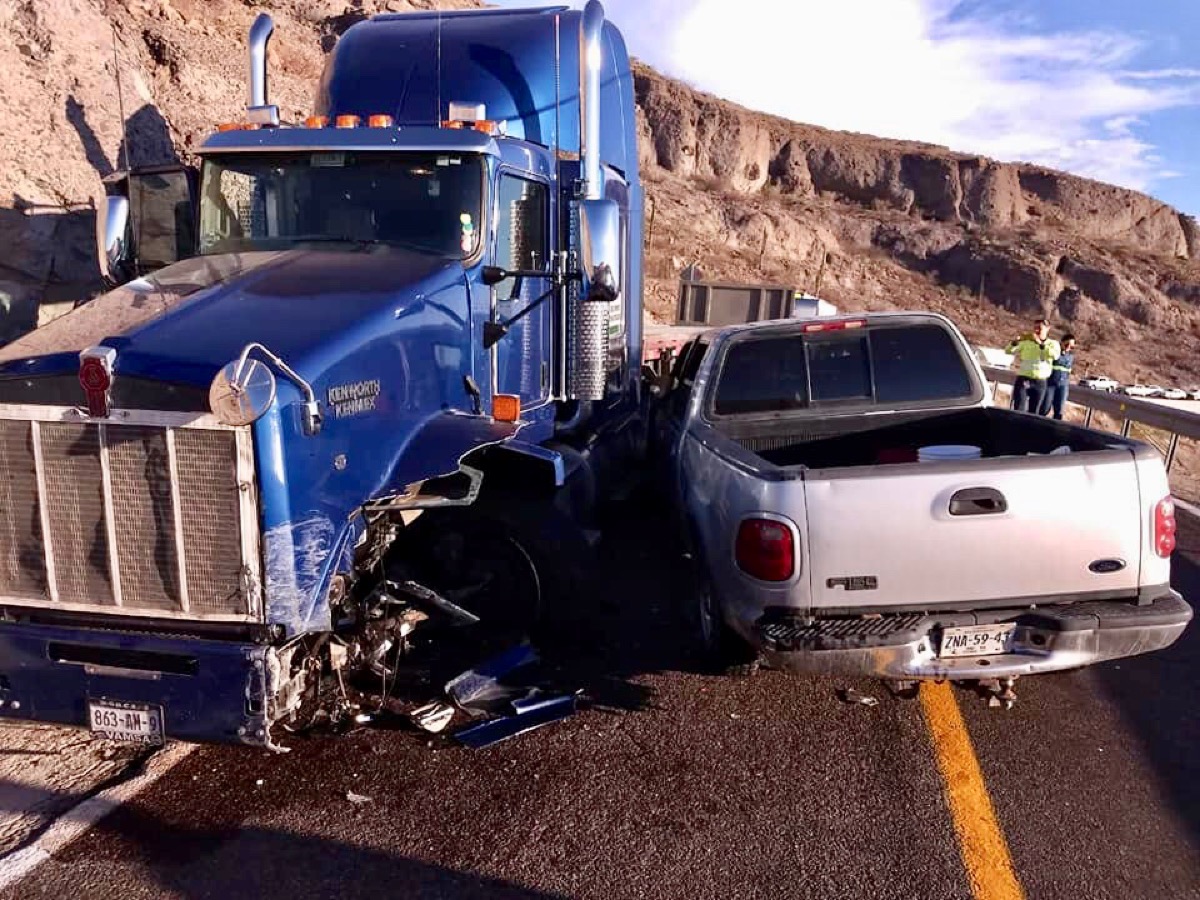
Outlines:
<svg viewBox="0 0 1200 900"><path fill-rule="evenodd" d="M466 259L479 248L484 184L478 154L210 156L200 180L199 248L390 245Z"/></svg>

